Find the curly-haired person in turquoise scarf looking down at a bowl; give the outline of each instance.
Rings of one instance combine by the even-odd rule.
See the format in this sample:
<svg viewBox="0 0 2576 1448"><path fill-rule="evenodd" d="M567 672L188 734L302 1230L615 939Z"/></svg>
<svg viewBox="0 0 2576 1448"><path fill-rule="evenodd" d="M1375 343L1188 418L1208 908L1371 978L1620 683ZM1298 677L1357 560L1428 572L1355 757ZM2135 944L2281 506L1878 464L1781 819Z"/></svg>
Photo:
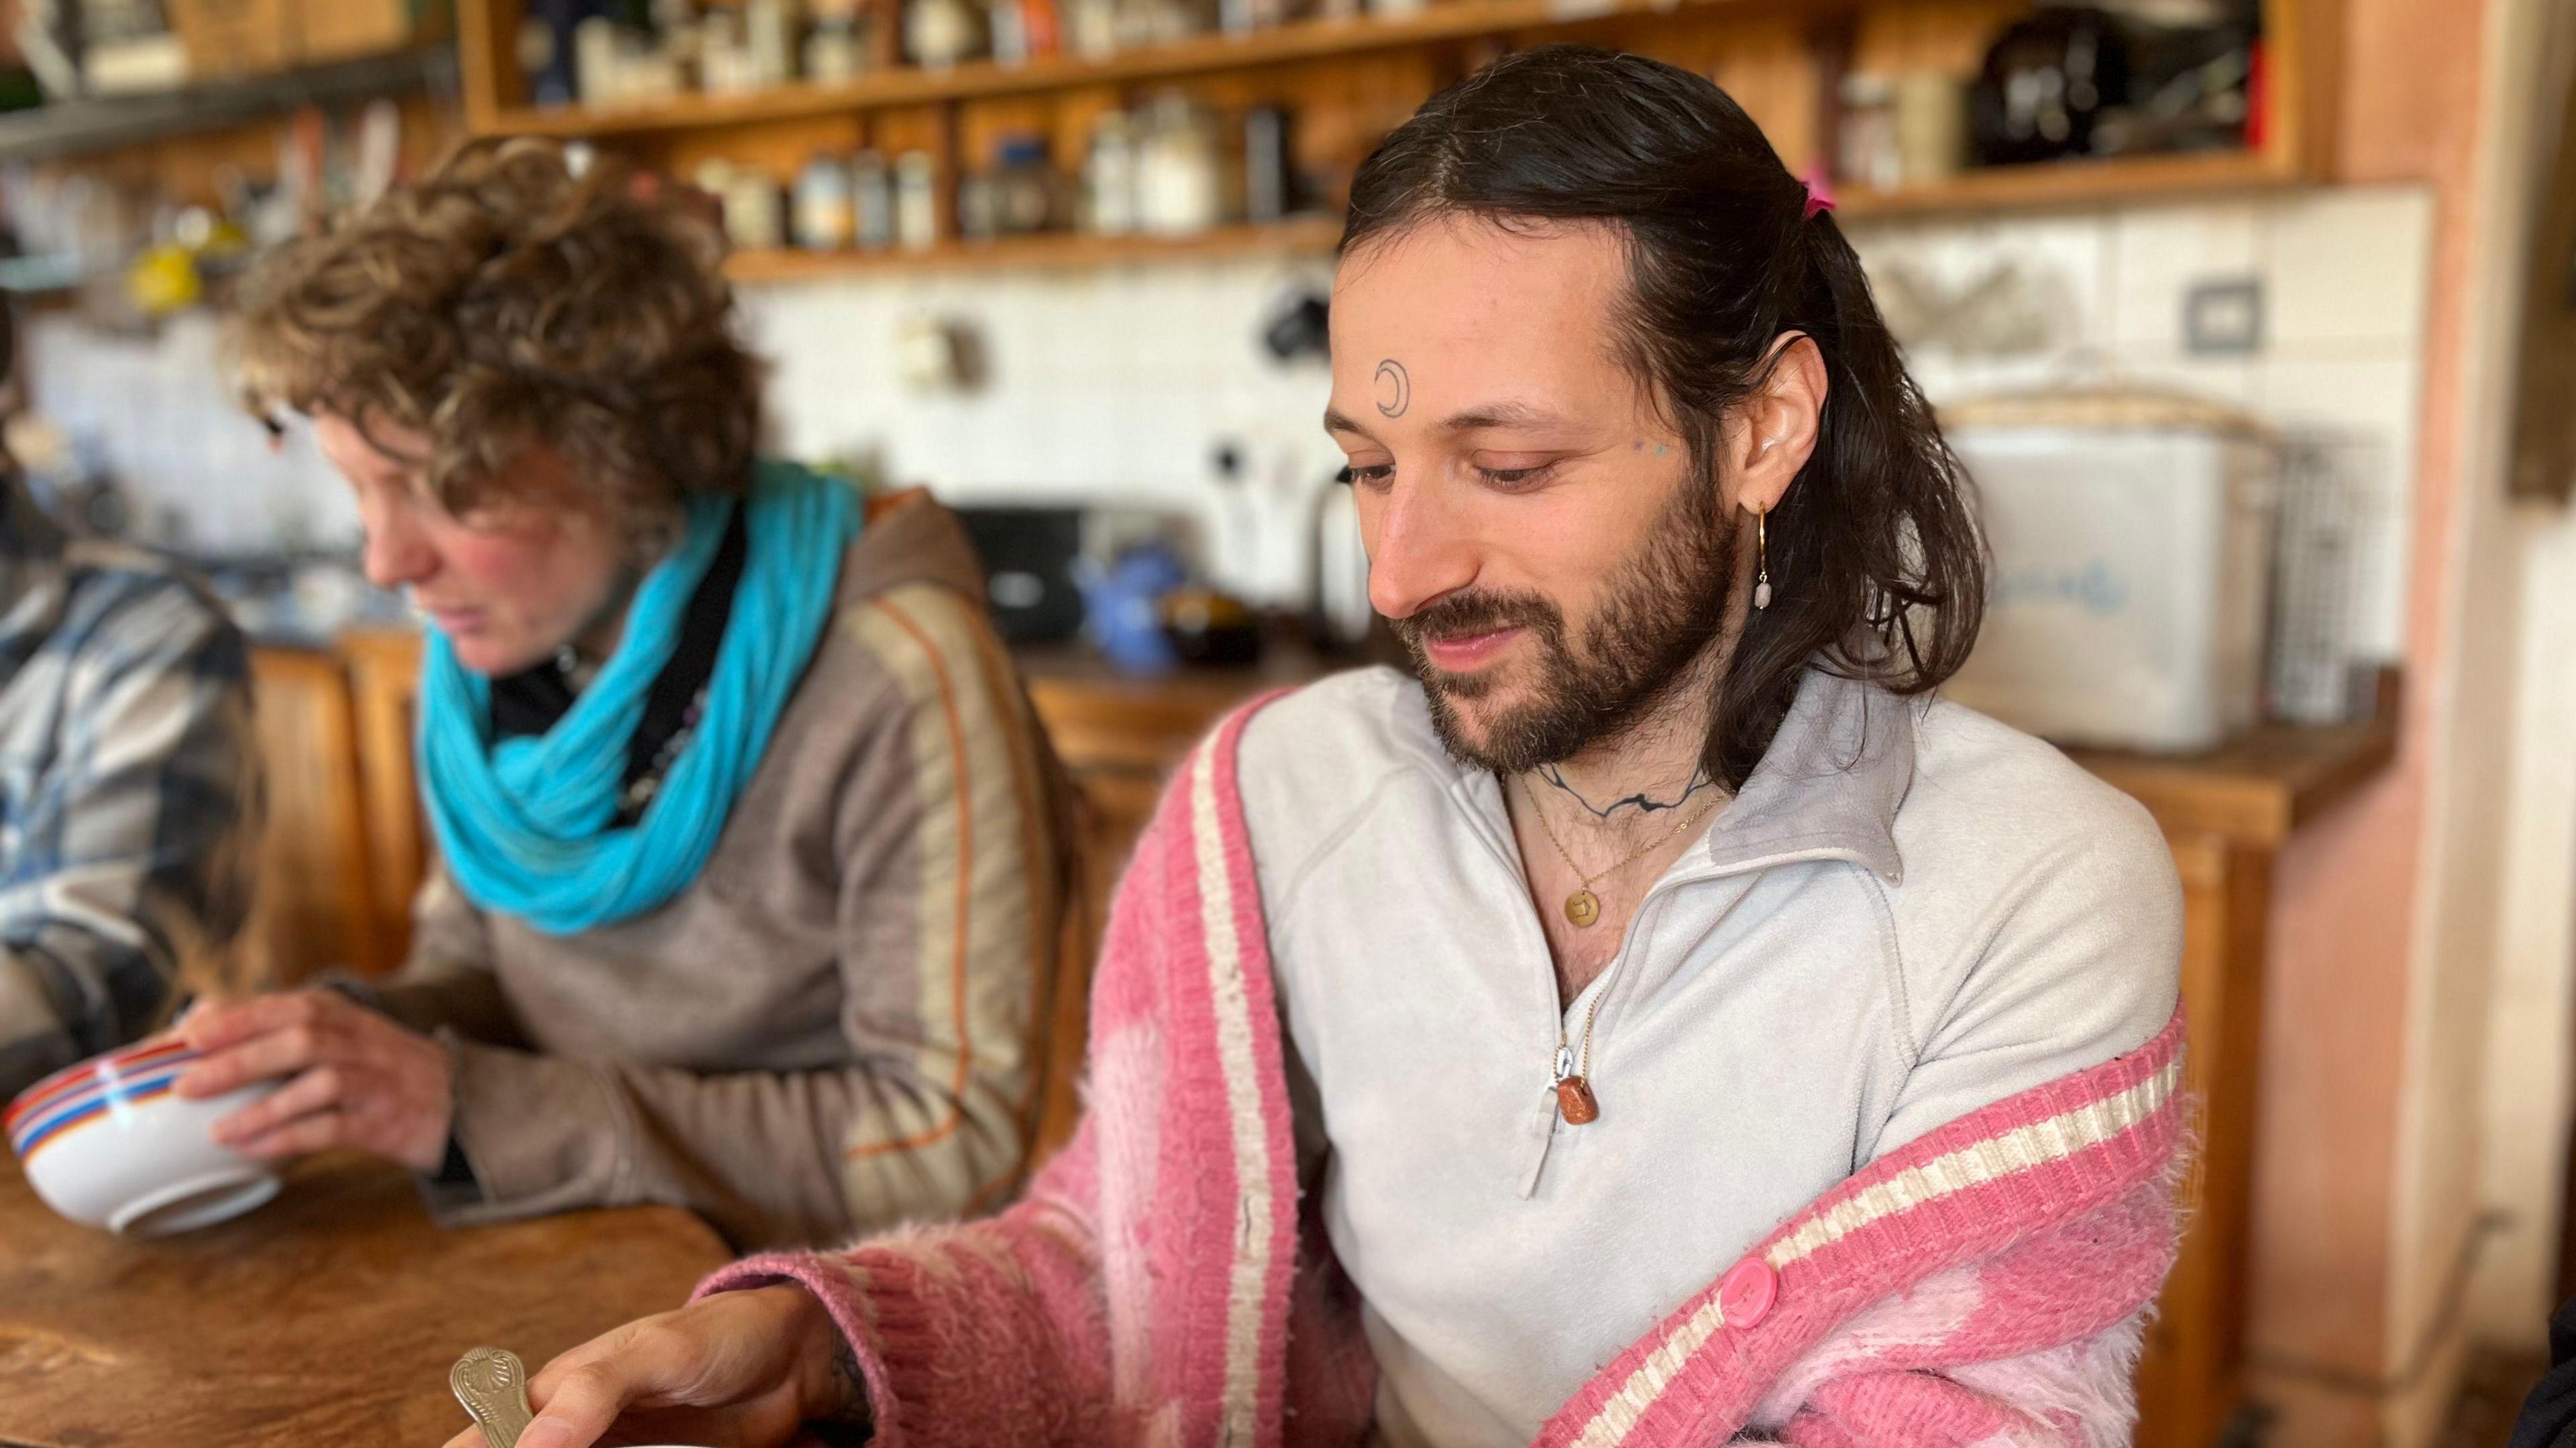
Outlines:
<svg viewBox="0 0 2576 1448"><path fill-rule="evenodd" d="M216 1131L355 1147L443 1221L659 1201L737 1244L945 1219L1025 1167L1066 794L956 518L755 456L714 237L474 142L245 281L428 621L438 871L384 984L193 1013Z"/></svg>

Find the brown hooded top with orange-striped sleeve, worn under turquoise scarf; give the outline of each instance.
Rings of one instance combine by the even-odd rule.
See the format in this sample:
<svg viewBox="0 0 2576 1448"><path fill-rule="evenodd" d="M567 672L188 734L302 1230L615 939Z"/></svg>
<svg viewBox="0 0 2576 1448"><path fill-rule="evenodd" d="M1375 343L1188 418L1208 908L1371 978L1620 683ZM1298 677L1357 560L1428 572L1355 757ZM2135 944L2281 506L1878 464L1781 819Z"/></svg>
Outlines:
<svg viewBox="0 0 2576 1448"><path fill-rule="evenodd" d="M453 1049L443 1221L696 1208L737 1247L969 1214L1025 1167L1066 791L956 518L868 523L701 876L544 935L433 876L371 992Z"/></svg>

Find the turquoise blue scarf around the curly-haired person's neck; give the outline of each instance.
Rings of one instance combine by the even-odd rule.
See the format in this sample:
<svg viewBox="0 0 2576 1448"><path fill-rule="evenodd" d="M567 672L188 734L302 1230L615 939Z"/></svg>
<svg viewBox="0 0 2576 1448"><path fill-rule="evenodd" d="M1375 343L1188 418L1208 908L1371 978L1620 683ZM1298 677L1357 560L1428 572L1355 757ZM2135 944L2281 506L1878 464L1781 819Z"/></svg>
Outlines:
<svg viewBox="0 0 2576 1448"><path fill-rule="evenodd" d="M706 709L652 804L618 827L626 742L734 508L747 510L747 549ZM680 546L636 585L616 654L544 734L495 745L492 680L459 665L430 629L420 778L466 899L574 935L657 910L698 879L814 657L858 518L842 482L770 461L744 500L693 500Z"/></svg>

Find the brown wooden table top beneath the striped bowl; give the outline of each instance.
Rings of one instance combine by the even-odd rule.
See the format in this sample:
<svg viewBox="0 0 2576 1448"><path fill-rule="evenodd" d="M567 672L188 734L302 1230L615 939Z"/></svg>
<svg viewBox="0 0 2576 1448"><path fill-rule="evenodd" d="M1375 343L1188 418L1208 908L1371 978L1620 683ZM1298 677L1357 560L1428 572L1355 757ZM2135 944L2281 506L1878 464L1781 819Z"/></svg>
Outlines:
<svg viewBox="0 0 2576 1448"><path fill-rule="evenodd" d="M435 1445L466 1427L466 1348L536 1368L726 1257L667 1206L443 1232L407 1175L355 1157L299 1165L237 1221L126 1242L0 1159L0 1445Z"/></svg>

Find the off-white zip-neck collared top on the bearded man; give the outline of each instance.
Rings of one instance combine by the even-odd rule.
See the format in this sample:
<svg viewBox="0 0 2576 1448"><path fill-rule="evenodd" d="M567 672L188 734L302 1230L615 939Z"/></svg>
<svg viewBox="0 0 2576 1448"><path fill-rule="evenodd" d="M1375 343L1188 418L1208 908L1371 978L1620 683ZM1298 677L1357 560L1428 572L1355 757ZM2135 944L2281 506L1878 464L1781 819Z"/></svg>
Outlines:
<svg viewBox="0 0 2576 1448"><path fill-rule="evenodd" d="M2182 889L2148 814L1955 703L1811 672L1744 791L1566 1010L1494 776L1396 670L1242 742L1301 1177L1388 1448L1517 1448L1880 1152L2146 1043ZM1602 1116L1556 1116L1600 995Z"/></svg>

